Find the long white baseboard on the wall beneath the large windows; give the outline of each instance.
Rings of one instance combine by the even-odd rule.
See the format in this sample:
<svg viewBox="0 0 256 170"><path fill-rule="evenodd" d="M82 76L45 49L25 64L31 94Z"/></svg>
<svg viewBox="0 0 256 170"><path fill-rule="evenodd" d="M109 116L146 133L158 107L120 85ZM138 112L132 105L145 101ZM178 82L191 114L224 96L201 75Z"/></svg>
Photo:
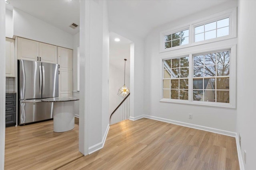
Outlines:
<svg viewBox="0 0 256 170"><path fill-rule="evenodd" d="M171 120L171 119L164 119L164 118L150 116L150 115L143 115L143 116L145 118L148 118L148 119L164 121L164 122L172 123L172 124L175 124L175 125L191 127L191 128L199 129L199 130L203 130L203 131L208 131L208 132L218 133L218 134L221 134L221 135L227 135L227 136L231 136L231 137L236 137L236 133L235 132L224 131L224 130L215 129L215 128L212 128L212 127L200 126L200 125L195 125L195 124L191 124L191 123L185 123L185 122L175 121L175 120Z"/></svg>

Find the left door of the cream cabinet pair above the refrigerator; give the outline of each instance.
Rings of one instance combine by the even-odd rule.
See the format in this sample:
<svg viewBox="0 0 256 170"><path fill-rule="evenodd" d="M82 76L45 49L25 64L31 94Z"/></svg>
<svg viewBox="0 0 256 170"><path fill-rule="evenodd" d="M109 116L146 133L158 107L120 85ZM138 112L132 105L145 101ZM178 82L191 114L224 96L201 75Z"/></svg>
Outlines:
<svg viewBox="0 0 256 170"><path fill-rule="evenodd" d="M39 61L39 42L18 37L18 60Z"/></svg>

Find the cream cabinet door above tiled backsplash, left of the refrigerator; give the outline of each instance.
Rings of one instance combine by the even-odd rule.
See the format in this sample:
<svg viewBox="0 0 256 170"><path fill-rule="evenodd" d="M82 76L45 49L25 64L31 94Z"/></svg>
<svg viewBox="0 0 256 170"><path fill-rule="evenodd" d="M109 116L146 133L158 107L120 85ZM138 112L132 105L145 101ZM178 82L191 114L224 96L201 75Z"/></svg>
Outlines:
<svg viewBox="0 0 256 170"><path fill-rule="evenodd" d="M6 77L15 77L15 49L14 39L6 38Z"/></svg>

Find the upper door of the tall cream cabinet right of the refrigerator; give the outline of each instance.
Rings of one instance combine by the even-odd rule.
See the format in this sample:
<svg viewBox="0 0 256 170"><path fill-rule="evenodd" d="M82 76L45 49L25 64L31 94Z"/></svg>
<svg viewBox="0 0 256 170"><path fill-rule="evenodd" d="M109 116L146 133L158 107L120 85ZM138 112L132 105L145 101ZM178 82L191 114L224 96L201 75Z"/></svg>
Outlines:
<svg viewBox="0 0 256 170"><path fill-rule="evenodd" d="M58 64L60 70L72 70L72 50L58 47Z"/></svg>

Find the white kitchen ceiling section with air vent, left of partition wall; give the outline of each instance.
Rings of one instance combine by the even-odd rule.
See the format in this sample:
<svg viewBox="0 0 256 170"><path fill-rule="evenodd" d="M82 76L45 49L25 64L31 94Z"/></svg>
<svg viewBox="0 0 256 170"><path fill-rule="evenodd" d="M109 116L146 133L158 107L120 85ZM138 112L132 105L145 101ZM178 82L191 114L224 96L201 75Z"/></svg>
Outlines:
<svg viewBox="0 0 256 170"><path fill-rule="evenodd" d="M80 2L79 0L8 0L8 10L18 8L40 20L62 29L72 35L79 32L69 27L72 23L79 25Z"/></svg>

